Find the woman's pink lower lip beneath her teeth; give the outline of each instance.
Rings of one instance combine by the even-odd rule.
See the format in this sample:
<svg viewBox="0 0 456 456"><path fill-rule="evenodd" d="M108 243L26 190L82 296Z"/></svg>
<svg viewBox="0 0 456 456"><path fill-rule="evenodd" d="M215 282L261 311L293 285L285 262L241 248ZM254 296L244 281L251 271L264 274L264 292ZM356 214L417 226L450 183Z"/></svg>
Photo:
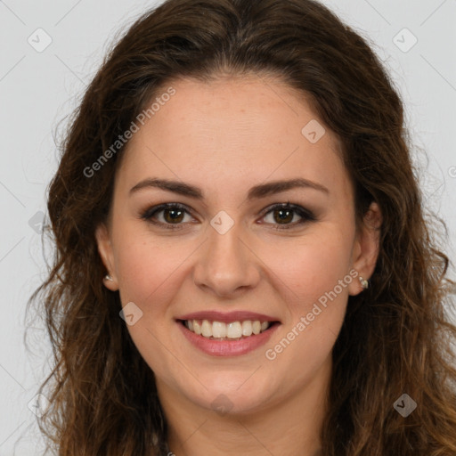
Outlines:
<svg viewBox="0 0 456 456"><path fill-rule="evenodd" d="M240 340L212 340L195 334L183 325L182 322L177 322L183 335L202 352L212 354L213 356L239 356L240 354L247 354L252 352L259 346L265 343L273 336L273 333L280 326L274 323L271 328L260 332L259 334L249 336L248 338L241 338Z"/></svg>

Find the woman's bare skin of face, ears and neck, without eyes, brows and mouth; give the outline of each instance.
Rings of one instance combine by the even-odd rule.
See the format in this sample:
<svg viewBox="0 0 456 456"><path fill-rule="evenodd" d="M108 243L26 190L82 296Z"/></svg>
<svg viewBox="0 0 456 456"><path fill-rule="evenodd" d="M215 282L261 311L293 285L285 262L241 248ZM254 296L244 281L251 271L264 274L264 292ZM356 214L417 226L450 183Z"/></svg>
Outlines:
<svg viewBox="0 0 456 456"><path fill-rule="evenodd" d="M301 134L312 119L323 126L302 94L256 76L169 85L175 95L129 142L109 221L96 231L112 277L105 285L119 290L122 305L134 302L142 310L127 328L155 372L172 452L314 456L321 446L331 350L348 296L362 292L358 278L275 359L267 359L265 350L350 271L371 277L379 253L379 207L372 203L356 233L353 187L338 138L326 126L315 143ZM150 177L191 183L204 199L152 187L129 195ZM247 200L256 184L296 177L329 193L295 188ZM277 211L262 211L287 201L313 211L317 220L280 230L301 216L295 212L281 222ZM165 202L192 211L179 219L183 229L141 218ZM210 224L221 210L234 223L224 234ZM165 216L162 211L155 220L172 224ZM192 346L175 322L202 310L268 314L281 326L253 352L211 356ZM219 395L228 398L225 413L212 405Z"/></svg>

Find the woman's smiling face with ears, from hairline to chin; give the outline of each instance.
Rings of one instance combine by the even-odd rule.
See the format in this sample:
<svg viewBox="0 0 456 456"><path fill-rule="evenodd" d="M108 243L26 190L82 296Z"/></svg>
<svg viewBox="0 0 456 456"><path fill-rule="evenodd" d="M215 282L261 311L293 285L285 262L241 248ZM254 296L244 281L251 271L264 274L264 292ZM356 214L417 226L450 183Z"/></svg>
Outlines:
<svg viewBox="0 0 456 456"><path fill-rule="evenodd" d="M338 140L304 97L259 77L169 85L97 230L105 284L164 401L261 411L328 380L378 238L355 235Z"/></svg>

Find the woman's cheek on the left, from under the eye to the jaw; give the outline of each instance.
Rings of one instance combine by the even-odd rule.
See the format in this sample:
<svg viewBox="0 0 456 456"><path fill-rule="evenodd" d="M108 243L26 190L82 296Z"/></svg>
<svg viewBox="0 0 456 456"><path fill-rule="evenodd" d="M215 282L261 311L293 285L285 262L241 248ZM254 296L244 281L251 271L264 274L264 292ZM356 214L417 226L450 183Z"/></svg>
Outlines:
<svg viewBox="0 0 456 456"><path fill-rule="evenodd" d="M137 322L127 325L127 330L152 371L172 382L170 372L177 371L179 365L169 355L170 350L175 353L170 339L176 330L170 303L180 289L185 260L191 256L194 243L177 242L172 237L156 238L152 243L149 233L137 232L135 236L132 233L133 240L125 239L128 237L117 244L120 300L123 306L133 302L142 312Z"/></svg>

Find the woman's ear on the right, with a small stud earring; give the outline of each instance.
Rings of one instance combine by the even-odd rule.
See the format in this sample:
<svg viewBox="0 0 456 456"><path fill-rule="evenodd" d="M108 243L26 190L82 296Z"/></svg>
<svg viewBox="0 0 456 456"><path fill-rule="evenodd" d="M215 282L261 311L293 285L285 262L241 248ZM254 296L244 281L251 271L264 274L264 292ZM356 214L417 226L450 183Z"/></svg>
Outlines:
<svg viewBox="0 0 456 456"><path fill-rule="evenodd" d="M358 273L358 276L355 281L348 285L348 293L351 296L358 295L363 290L359 277L361 276L363 280L367 280L374 272L379 256L382 220L379 205L376 202L372 202L354 240L352 268Z"/></svg>

